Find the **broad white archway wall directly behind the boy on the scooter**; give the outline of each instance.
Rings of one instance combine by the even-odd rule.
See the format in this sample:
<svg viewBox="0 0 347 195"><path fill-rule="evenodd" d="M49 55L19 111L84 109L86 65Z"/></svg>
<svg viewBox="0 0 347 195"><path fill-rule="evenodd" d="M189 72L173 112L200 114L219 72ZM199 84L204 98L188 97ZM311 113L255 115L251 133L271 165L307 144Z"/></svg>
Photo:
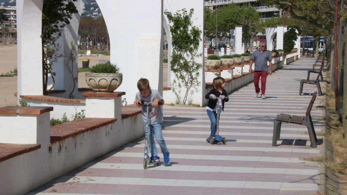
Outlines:
<svg viewBox="0 0 347 195"><path fill-rule="evenodd" d="M137 80L143 77L162 93L162 0L96 2L110 36L111 63L123 74L117 91L126 92L124 97L132 102L138 91Z"/></svg>

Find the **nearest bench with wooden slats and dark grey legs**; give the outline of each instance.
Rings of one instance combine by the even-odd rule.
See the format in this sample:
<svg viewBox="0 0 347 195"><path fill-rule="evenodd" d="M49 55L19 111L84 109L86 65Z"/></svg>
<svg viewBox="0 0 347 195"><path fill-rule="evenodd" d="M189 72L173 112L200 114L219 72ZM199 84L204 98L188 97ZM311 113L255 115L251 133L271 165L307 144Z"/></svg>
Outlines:
<svg viewBox="0 0 347 195"><path fill-rule="evenodd" d="M308 104L305 116L294 116L294 115L287 115L282 113L277 115L277 117L273 120L272 146L277 146L277 141L280 140L281 124L282 122L285 122L285 123L305 125L308 130L308 135L310 136L311 147L312 148L317 147L317 144L316 144L317 136L316 136L316 132L314 131L314 126L313 126L312 117L311 117L311 110L313 107L314 100L316 99L316 95L317 95L317 92L314 92L312 99L310 103Z"/></svg>

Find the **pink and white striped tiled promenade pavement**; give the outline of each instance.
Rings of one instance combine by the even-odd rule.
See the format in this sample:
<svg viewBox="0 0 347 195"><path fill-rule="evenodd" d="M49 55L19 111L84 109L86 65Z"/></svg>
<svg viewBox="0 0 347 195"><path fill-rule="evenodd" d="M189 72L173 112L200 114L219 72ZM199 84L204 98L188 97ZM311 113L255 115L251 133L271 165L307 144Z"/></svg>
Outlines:
<svg viewBox="0 0 347 195"><path fill-rule="evenodd" d="M144 170L141 138L29 194L315 193L320 165L299 158L319 155L321 145L311 149L305 126L282 124L281 145L271 146L273 118L282 112L304 115L308 93L317 91L305 85L307 94L298 95L299 80L306 78L313 62L301 59L269 75L266 100L253 97L253 83L230 94L220 120L226 145L205 142L210 134L205 108L165 106L163 135L171 166ZM317 96L315 105L322 104L323 97ZM313 108L313 118L322 115ZM321 121L313 122L316 132L321 131Z"/></svg>

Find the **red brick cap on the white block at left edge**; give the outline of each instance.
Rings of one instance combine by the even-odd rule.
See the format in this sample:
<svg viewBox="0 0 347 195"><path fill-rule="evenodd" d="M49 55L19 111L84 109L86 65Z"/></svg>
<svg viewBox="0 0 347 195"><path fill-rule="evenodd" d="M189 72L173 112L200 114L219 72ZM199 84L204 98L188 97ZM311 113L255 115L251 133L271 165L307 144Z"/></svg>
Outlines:
<svg viewBox="0 0 347 195"><path fill-rule="evenodd" d="M2 115L41 115L45 112L50 112L53 107L22 107L22 106L7 106L0 108Z"/></svg>

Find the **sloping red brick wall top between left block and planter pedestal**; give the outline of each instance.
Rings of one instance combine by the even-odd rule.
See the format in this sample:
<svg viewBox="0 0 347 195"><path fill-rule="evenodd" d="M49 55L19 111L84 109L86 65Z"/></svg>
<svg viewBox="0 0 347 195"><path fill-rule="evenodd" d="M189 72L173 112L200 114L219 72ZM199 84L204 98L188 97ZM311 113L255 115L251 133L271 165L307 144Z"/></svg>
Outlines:
<svg viewBox="0 0 347 195"><path fill-rule="evenodd" d="M51 126L51 143L94 130L115 121L117 121L116 118L81 118Z"/></svg>

